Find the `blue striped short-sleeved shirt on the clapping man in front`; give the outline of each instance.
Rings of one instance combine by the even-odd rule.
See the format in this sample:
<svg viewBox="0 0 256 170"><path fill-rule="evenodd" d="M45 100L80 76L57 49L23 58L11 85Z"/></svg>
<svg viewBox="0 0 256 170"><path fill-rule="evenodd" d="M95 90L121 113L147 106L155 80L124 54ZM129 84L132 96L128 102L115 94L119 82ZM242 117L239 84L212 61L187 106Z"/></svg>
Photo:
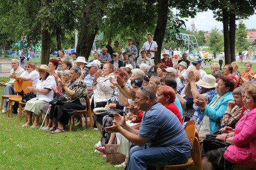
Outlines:
<svg viewBox="0 0 256 170"><path fill-rule="evenodd" d="M178 152L189 152L190 143L179 119L161 103L154 104L143 113L139 137L149 138L149 147L171 147Z"/></svg>

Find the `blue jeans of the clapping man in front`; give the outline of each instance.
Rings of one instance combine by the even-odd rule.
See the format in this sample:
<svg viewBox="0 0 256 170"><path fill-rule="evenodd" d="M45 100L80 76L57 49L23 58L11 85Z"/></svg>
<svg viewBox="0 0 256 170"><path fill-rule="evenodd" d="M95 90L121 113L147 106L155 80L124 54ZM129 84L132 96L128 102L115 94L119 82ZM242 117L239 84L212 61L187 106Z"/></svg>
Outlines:
<svg viewBox="0 0 256 170"><path fill-rule="evenodd" d="M191 148L188 147L188 150ZM172 150L172 147L134 146L130 150L126 169L147 169L161 165L184 164L190 158L190 153L181 153Z"/></svg>

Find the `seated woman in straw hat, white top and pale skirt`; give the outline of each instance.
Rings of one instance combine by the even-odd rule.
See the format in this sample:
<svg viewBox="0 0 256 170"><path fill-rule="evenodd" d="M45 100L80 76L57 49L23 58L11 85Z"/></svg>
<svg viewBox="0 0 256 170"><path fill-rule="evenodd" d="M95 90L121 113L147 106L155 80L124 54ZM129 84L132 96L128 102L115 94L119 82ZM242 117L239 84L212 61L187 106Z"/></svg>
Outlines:
<svg viewBox="0 0 256 170"><path fill-rule="evenodd" d="M35 98L32 98L25 105L25 112L28 117L26 124L22 127L29 126L32 124L32 114L34 114L35 119L31 128L35 128L39 124L39 117L42 114L41 108L47 102L50 102L53 98L53 90L51 87L56 86L56 81L51 76L51 71L48 66L41 65L35 68L39 72L39 79L36 87L27 87L28 91L32 91L36 94Z"/></svg>

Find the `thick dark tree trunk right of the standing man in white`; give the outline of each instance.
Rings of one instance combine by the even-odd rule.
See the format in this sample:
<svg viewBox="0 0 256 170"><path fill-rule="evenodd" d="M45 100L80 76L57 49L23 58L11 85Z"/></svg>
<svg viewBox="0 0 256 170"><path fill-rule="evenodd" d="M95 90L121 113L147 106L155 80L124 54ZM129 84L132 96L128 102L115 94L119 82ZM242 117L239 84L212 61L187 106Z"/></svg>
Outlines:
<svg viewBox="0 0 256 170"><path fill-rule="evenodd" d="M164 41L164 34L167 24L168 17L168 8L169 0L159 0L158 1L158 18L157 18L157 26L154 31L154 41L157 42L157 52L154 53L154 63L157 65L161 59L161 48Z"/></svg>

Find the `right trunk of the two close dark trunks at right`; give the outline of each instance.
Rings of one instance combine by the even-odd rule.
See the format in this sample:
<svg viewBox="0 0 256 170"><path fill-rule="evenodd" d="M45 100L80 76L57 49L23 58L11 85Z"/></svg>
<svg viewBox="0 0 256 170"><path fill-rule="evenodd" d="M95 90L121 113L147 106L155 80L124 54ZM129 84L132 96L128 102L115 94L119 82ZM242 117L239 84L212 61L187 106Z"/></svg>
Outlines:
<svg viewBox="0 0 256 170"><path fill-rule="evenodd" d="M230 54L231 62L235 61L235 14L230 13Z"/></svg>

